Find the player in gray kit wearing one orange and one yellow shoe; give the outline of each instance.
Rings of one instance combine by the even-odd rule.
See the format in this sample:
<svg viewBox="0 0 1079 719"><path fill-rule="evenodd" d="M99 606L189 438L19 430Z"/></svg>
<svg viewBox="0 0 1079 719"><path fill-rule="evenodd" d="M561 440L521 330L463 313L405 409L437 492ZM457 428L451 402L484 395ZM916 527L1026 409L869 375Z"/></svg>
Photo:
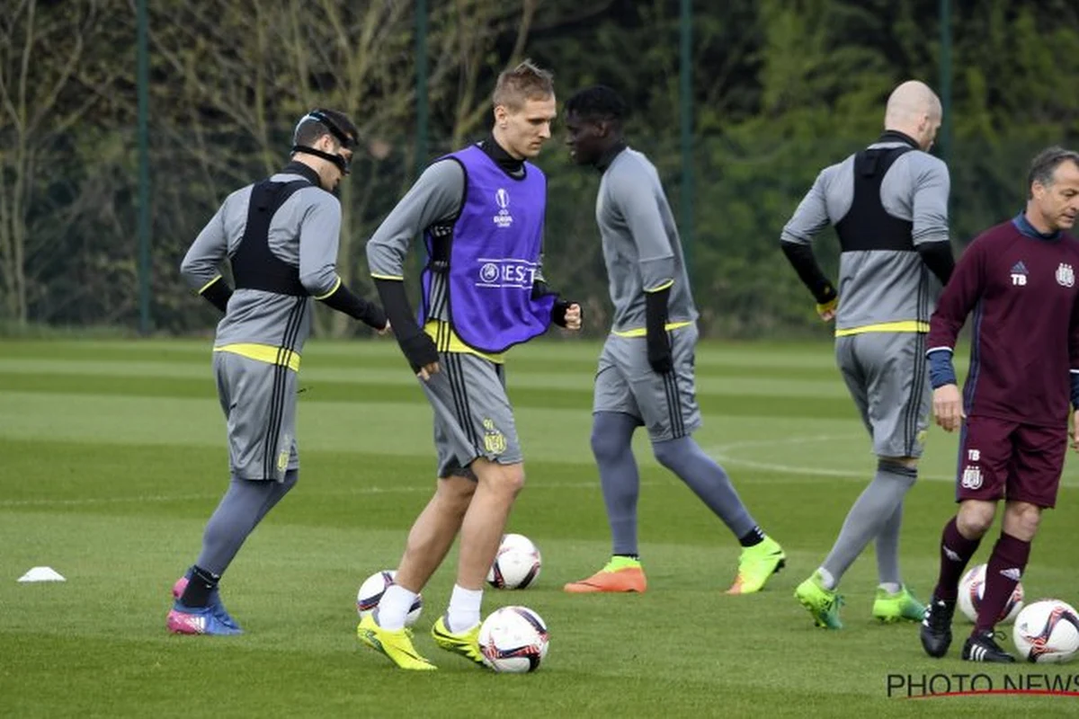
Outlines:
<svg viewBox="0 0 1079 719"><path fill-rule="evenodd" d="M656 168L626 144L626 103L602 85L565 105L566 143L579 165L603 174L596 213L614 321L599 360L592 454L612 534L611 561L565 585L571 593L644 592L637 545L640 479L631 440L644 426L656 459L719 516L742 545L729 594L757 592L786 559L764 535L726 472L693 439L700 427L694 388L697 308L682 246Z"/></svg>

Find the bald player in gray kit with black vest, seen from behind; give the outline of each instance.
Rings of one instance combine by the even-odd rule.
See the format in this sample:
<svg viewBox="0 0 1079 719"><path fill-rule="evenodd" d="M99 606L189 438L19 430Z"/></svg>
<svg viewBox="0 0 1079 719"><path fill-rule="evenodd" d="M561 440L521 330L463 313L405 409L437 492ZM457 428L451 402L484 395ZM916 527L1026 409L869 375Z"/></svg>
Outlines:
<svg viewBox="0 0 1079 719"><path fill-rule="evenodd" d="M877 456L876 474L847 513L832 551L795 591L814 623L833 630L843 626L839 581L871 540L879 581L873 617L920 621L924 611L901 579L899 529L929 426L929 315L955 264L948 174L927 154L941 124L940 100L928 86L909 81L896 87L884 122L876 142L817 176L780 241L821 319L835 320L836 361ZM838 292L811 247L829 224L842 250Z"/></svg>

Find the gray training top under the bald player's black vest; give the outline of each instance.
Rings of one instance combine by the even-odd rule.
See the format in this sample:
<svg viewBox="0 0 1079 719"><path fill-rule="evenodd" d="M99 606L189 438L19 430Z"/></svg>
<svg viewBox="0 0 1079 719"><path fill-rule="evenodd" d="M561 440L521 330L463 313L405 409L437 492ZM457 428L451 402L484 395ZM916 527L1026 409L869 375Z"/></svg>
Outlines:
<svg viewBox="0 0 1079 719"><path fill-rule="evenodd" d="M902 148L903 142L876 142L869 149ZM784 243L809 245L829 224L850 210L855 195L855 155L825 167L783 227ZM880 183L880 202L888 215L913 223L915 246L946 243L948 198L947 166L920 150L900 155ZM839 258L839 306L836 334L853 334L874 326L918 320L919 284L924 263L917 252L859 250ZM940 281L929 277L928 310L940 296ZM921 298L921 300L926 300ZM925 308L925 303L923 303ZM912 327L911 330L914 330ZM928 331L928 327L920 329Z"/></svg>

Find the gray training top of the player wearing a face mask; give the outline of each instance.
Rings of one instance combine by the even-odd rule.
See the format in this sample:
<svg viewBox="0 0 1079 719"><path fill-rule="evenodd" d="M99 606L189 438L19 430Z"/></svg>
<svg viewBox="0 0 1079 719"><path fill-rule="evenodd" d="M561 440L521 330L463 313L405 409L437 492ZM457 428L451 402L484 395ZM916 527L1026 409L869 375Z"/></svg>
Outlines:
<svg viewBox="0 0 1079 719"><path fill-rule="evenodd" d="M305 178L278 172L271 179L293 182ZM236 251L247 225L252 186L236 190L226 198L183 258L180 272L195 290L219 277L221 263ZM315 185L301 188L285 201L270 221L270 251L299 267L300 282L312 296L324 298L341 284L337 274L340 233L341 203L338 198ZM237 289L229 300L228 313L217 326L214 346L256 344L299 352L311 334L311 298Z"/></svg>

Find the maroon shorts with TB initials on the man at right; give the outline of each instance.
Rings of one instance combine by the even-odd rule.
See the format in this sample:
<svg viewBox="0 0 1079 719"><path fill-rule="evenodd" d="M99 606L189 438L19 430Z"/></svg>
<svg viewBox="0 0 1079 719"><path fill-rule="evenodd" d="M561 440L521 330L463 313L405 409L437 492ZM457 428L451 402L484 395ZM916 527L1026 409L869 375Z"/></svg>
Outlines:
<svg viewBox="0 0 1079 719"><path fill-rule="evenodd" d="M1009 499L1051 508L1067 450L1067 427L968 417L959 435L956 501Z"/></svg>

